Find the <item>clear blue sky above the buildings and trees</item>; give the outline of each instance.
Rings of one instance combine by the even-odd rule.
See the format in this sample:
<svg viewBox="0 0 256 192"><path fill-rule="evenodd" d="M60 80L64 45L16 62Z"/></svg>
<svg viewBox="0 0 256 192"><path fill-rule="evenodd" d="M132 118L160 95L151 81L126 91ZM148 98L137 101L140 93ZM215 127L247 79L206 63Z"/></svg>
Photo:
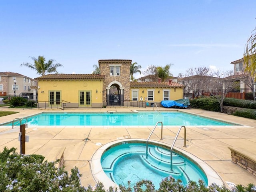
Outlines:
<svg viewBox="0 0 256 192"><path fill-rule="evenodd" d="M39 55L60 73L90 74L100 59L232 70L255 18L256 0L1 0L0 71L36 78L20 64Z"/></svg>

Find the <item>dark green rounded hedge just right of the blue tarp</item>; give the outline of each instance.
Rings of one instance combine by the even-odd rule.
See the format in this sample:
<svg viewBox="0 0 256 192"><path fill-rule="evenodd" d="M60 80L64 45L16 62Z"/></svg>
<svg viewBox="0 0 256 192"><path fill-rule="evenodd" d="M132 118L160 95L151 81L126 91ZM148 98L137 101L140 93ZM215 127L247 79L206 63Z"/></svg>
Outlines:
<svg viewBox="0 0 256 192"><path fill-rule="evenodd" d="M192 108L200 108L209 111L220 112L220 104L216 98L203 97L190 100L190 106Z"/></svg>

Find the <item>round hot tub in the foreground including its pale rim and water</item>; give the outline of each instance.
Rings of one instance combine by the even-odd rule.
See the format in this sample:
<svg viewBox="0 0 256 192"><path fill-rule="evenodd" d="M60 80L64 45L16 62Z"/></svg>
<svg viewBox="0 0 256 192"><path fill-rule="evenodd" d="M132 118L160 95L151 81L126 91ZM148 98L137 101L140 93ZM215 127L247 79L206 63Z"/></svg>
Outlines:
<svg viewBox="0 0 256 192"><path fill-rule="evenodd" d="M170 169L170 146L150 141L149 155L146 158L146 140L118 140L99 148L92 157L92 174L95 180L106 185L131 186L146 179L159 188L161 180L173 176L186 185L189 181L201 179L206 185L212 183L223 185L220 177L202 160L182 150L174 149L173 169ZM174 160L175 159L175 160ZM100 166L101 168L95 167ZM105 182L105 183L104 183Z"/></svg>

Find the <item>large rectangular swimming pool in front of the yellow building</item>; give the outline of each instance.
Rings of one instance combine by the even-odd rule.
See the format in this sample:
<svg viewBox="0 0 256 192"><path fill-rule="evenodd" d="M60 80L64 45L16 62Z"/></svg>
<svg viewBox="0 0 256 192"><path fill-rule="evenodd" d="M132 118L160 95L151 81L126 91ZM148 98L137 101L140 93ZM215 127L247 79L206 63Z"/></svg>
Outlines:
<svg viewBox="0 0 256 192"><path fill-rule="evenodd" d="M236 125L229 122L204 118L184 112L130 112L130 113L54 113L43 112L27 117L28 126L154 126L163 122L165 126ZM25 120L22 120L24 123ZM19 125L18 121L15 123ZM5 124L10 126L12 122Z"/></svg>

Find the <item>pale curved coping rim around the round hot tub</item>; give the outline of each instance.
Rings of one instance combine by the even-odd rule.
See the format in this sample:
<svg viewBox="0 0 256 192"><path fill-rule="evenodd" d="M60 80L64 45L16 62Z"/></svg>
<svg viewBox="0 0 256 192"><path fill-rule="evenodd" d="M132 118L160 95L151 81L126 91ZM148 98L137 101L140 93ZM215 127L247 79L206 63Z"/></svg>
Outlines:
<svg viewBox="0 0 256 192"><path fill-rule="evenodd" d="M102 169L101 156L109 147L111 147L113 145L117 145L119 143L121 144L122 142L143 142L143 143L146 143L146 139L115 140L115 141L109 142L109 143L101 146L92 155L91 164L90 164L90 170L92 172L92 176L93 176L94 180L97 183L102 182L102 184L103 184L103 186L106 190L108 190L108 188L110 186L119 189L119 186L116 183L114 183L110 178L108 178L108 176L106 175L106 173ZM170 144L166 144L164 142L149 140L148 143L149 144L156 144L156 145L160 145L160 146L167 146L167 147L171 148ZM193 154L191 154L191 153L189 153L185 150L182 150L180 148L174 147L173 150L174 150L174 152L176 152L178 154L182 154L182 155L186 156L186 158L190 159L192 162L197 164L203 170L203 172L206 174L207 179L208 179L208 186L210 186L212 183L215 183L218 186L224 186L223 180L220 178L220 176L217 174L217 172L215 170L213 170L208 164L206 164L206 162L202 161L201 159L194 156Z"/></svg>

